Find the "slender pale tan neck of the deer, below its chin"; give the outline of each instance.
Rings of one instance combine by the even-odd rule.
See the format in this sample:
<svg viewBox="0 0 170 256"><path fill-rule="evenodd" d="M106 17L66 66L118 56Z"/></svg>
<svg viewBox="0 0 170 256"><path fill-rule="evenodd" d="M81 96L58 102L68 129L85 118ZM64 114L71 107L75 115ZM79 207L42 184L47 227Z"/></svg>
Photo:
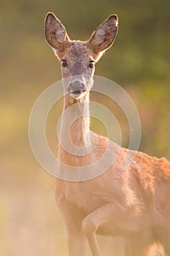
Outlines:
<svg viewBox="0 0 170 256"><path fill-rule="evenodd" d="M82 99L64 98L59 140L60 148L74 155L79 148L90 146L89 92Z"/></svg>

